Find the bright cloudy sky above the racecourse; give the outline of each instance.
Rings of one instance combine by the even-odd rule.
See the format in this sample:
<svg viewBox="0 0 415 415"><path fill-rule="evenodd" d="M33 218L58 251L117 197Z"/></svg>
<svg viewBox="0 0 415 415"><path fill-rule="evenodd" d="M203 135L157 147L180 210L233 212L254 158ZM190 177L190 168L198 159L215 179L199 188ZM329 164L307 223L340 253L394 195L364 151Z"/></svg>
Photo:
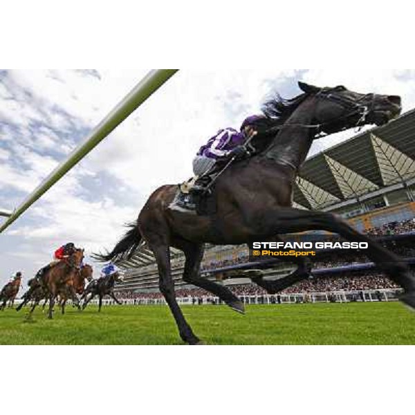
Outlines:
<svg viewBox="0 0 415 415"><path fill-rule="evenodd" d="M147 71L0 71L0 208L17 207ZM17 270L26 283L62 243L87 254L113 246L156 187L192 175L217 129L239 128L272 90L297 95L298 80L401 95L404 111L415 107L415 69L179 71L0 234L0 285ZM350 136L315 142L311 154Z"/></svg>

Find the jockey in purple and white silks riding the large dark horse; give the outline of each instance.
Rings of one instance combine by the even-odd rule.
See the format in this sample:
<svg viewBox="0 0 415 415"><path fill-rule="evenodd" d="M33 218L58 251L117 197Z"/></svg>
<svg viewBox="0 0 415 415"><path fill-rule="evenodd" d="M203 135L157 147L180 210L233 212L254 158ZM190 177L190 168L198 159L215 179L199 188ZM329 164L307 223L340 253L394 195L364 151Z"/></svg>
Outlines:
<svg viewBox="0 0 415 415"><path fill-rule="evenodd" d="M215 175L232 160L250 156L254 151L247 142L255 137L257 131L253 128L255 122L266 116L250 116L241 124L239 131L233 128L219 130L197 152L193 160L193 172L196 178L194 185L187 193L179 193L170 206L173 210L192 212L196 209L195 201L203 194Z"/></svg>

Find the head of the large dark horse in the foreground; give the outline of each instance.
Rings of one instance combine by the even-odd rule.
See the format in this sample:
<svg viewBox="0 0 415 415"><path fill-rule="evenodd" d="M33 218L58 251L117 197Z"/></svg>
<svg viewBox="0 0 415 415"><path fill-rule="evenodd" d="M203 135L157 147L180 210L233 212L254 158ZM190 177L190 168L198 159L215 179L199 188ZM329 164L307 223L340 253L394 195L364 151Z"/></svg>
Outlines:
<svg viewBox="0 0 415 415"><path fill-rule="evenodd" d="M318 88L304 82L298 84L302 91L315 98L313 123L320 124L325 133L365 124L387 124L402 111L398 95L362 94L344 86Z"/></svg>

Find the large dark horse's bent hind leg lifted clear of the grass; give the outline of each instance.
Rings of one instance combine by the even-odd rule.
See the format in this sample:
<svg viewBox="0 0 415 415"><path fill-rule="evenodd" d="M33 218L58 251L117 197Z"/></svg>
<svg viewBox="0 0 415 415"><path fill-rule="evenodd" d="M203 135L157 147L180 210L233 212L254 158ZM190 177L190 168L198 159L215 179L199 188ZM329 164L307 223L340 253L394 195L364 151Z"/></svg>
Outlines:
<svg viewBox="0 0 415 415"><path fill-rule="evenodd" d="M201 261L203 259L203 244L192 243L183 239L174 239L172 245L175 248L183 250L185 253L186 261L185 270L183 271L183 280L185 282L209 291L213 295L219 297L225 304L228 304L232 310L242 314L245 313L243 302L241 302L229 288L200 276Z"/></svg>

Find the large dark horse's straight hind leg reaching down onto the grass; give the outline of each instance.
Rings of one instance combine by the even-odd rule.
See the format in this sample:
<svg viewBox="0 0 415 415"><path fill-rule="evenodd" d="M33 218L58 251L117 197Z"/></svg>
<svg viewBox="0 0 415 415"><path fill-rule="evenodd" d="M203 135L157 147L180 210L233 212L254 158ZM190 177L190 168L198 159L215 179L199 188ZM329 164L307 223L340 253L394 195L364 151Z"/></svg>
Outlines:
<svg viewBox="0 0 415 415"><path fill-rule="evenodd" d="M165 297L165 300L173 313L174 320L176 320L176 324L178 326L178 332L180 333L183 341L189 344L200 344L199 338L194 335L190 325L187 324L181 308L178 306L176 301L176 293L174 292L174 282L171 273L169 246L167 243L163 243L163 241L159 241L157 239L159 238L156 237L154 241L151 241L151 243L149 243L149 247L154 252L154 256L156 257L160 291Z"/></svg>

